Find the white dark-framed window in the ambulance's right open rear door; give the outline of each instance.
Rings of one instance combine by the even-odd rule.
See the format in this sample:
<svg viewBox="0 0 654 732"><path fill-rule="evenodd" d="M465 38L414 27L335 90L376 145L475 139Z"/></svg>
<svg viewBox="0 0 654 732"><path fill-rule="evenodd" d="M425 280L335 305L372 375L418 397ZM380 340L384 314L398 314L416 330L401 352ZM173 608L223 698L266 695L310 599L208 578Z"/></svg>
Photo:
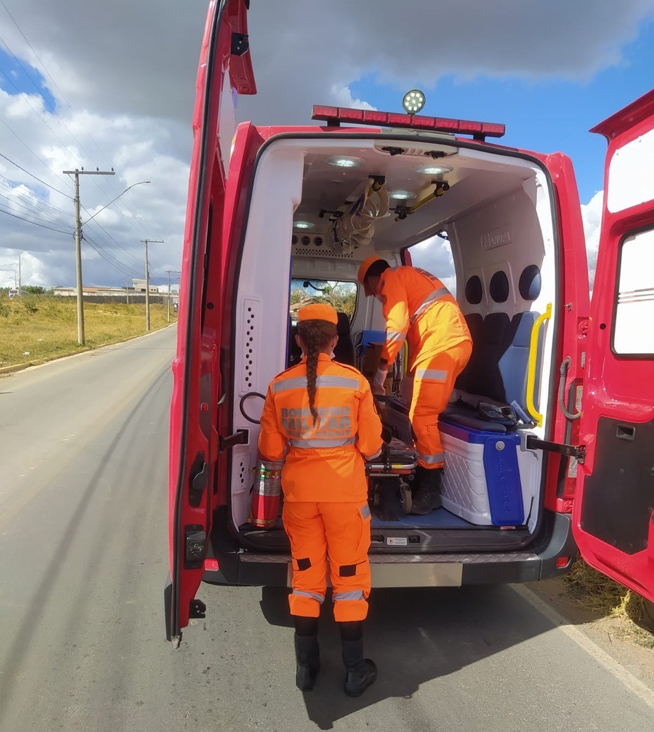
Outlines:
<svg viewBox="0 0 654 732"><path fill-rule="evenodd" d="M627 236L620 247L613 329L616 354L654 354L654 230Z"/></svg>

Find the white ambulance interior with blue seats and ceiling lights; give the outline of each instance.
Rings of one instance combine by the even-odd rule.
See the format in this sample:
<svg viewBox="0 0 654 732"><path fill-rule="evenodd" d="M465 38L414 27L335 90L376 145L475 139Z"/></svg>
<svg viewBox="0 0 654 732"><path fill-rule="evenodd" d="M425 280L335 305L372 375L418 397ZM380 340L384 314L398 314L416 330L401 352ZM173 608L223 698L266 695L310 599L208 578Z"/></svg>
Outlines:
<svg viewBox="0 0 654 732"><path fill-rule="evenodd" d="M550 304L556 312L551 196L547 175L533 160L462 146L454 138L289 137L260 153L237 280L234 344L233 427L249 430L249 444L233 449L231 512L246 547L287 548L281 521L268 530L248 523L255 422L263 404L257 395L298 359L294 315L312 299L343 302L337 359L370 368L384 321L380 303L364 296L356 274L371 254L391 266L421 266L443 280L473 337L473 356L440 420L443 507L427 516L407 514L398 490L395 520L383 520L371 495L372 551L527 545L541 518L544 483L542 453L527 447L527 436L543 437L551 397L555 324L539 318ZM400 396L407 369L402 349L383 407L393 418L385 422L394 441L407 441ZM511 404L525 419L495 421L489 405Z"/></svg>

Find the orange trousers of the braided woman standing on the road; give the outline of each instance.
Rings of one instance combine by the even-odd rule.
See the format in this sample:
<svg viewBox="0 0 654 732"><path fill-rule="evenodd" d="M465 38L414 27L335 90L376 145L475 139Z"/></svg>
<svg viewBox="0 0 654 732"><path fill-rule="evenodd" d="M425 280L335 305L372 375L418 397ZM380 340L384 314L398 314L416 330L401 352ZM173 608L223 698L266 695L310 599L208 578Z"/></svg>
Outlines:
<svg viewBox="0 0 654 732"><path fill-rule="evenodd" d="M368 504L288 501L282 521L293 558L291 615L317 618L327 589L327 556L334 620L364 620L370 594Z"/></svg>

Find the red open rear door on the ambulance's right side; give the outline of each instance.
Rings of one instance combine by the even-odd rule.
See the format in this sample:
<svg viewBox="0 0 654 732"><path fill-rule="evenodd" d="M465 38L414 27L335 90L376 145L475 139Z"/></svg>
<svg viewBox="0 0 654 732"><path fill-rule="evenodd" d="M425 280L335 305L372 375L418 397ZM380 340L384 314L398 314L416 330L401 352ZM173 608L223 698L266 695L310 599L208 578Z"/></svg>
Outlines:
<svg viewBox="0 0 654 732"><path fill-rule="evenodd" d="M574 537L588 564L654 601L654 90L591 132L609 150Z"/></svg>

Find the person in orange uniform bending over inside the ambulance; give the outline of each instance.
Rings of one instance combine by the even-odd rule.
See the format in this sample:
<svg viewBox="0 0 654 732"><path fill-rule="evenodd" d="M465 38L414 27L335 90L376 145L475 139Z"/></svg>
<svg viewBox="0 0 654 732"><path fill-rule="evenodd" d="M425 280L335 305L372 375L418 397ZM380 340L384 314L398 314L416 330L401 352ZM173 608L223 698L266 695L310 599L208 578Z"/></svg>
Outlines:
<svg viewBox="0 0 654 732"><path fill-rule="evenodd" d="M366 295L382 302L386 319L386 343L372 384L375 393L384 393L388 367L408 339L413 376L409 417L418 450L411 512L428 514L440 507L445 466L438 415L446 408L454 381L470 359L470 331L456 299L424 269L391 268L387 261L372 256L361 263L358 281Z"/></svg>

